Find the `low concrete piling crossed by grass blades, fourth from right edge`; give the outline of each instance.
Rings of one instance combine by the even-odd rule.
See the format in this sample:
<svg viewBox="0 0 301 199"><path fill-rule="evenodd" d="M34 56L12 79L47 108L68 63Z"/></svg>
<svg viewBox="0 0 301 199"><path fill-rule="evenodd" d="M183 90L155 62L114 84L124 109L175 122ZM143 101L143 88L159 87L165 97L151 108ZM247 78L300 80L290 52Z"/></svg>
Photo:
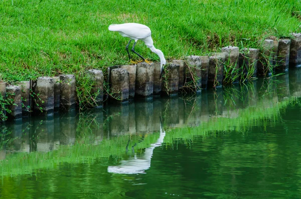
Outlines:
<svg viewBox="0 0 301 199"><path fill-rule="evenodd" d="M258 48L242 49L242 53L239 53L239 67L242 68L244 76L246 76L247 73L252 72L252 74L249 74L249 76L256 77L258 59Z"/></svg>

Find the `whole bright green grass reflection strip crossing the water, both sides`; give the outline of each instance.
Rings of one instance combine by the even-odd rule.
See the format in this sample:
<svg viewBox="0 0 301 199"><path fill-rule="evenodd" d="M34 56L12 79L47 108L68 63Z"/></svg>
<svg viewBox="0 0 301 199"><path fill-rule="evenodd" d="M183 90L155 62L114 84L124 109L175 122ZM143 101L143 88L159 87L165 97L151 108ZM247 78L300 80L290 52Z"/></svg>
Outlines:
<svg viewBox="0 0 301 199"><path fill-rule="evenodd" d="M192 140L194 135L206 135L209 132L219 133L227 130L244 130L252 125L267 125L269 121L275 121L279 116L279 110L286 107L288 103L296 101L294 97L276 103L273 107L265 107L264 100L258 101L256 107L238 109L236 118L214 117L208 122L203 122L198 127L184 127L167 130L164 142L173 143L175 138ZM260 120L259 120L260 119ZM259 123L264 119L265 124ZM84 123L84 122L82 122ZM84 124L82 124L84 125ZM148 147L150 143L155 143L159 137L158 133L142 135L122 135L104 138L100 144L91 144L91 133L94 127L86 123L87 128L80 128L81 132L74 145L60 145L58 150L50 152L31 152L7 154L5 160L0 161L1 175L18 175L32 173L34 170L43 168L53 168L63 162L67 163L93 163L99 158L106 160L111 156L113 162L117 163L126 153L126 145L129 152L131 146L135 152L139 153L142 148ZM128 140L130 140L128 142Z"/></svg>

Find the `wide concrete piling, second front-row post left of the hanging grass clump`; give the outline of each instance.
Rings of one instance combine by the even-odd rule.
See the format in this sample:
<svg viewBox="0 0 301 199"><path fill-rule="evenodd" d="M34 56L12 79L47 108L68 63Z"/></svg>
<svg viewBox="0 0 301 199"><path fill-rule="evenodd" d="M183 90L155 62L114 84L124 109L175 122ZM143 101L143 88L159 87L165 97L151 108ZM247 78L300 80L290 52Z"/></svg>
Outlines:
<svg viewBox="0 0 301 199"><path fill-rule="evenodd" d="M34 85L35 113L51 114L54 108L54 78L39 77Z"/></svg>

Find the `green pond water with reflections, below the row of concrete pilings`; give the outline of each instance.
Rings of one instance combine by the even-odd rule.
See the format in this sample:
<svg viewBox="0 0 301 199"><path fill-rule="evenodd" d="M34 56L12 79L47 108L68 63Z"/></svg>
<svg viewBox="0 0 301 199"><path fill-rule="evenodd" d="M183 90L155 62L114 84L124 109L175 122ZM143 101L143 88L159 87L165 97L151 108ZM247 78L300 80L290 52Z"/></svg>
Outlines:
<svg viewBox="0 0 301 199"><path fill-rule="evenodd" d="M301 70L1 130L1 198L301 197Z"/></svg>

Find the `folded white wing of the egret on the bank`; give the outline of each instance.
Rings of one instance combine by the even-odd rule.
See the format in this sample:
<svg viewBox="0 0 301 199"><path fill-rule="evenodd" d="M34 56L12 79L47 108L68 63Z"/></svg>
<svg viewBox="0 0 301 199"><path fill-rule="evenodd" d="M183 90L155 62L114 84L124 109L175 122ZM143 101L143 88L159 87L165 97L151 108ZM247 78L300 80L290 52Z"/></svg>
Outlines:
<svg viewBox="0 0 301 199"><path fill-rule="evenodd" d="M117 31L128 35L128 37L137 39L146 38L152 34L152 31L150 31L149 27L139 23L118 24Z"/></svg>

